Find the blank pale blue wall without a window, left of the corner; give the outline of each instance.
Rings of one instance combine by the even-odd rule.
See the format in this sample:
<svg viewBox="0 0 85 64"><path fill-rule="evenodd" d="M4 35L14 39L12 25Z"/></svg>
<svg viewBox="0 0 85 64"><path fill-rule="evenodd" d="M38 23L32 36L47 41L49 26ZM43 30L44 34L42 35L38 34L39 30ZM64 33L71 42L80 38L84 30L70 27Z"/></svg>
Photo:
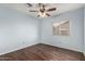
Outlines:
<svg viewBox="0 0 85 64"><path fill-rule="evenodd" d="M0 5L0 54L39 41L39 22L29 15Z"/></svg>

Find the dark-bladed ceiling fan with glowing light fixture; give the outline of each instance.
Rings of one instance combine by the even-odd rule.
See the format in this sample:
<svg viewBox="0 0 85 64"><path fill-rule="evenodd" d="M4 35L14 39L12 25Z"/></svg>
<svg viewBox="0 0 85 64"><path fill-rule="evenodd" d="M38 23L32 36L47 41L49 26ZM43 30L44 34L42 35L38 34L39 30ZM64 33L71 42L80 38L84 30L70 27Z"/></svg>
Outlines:
<svg viewBox="0 0 85 64"><path fill-rule="evenodd" d="M28 7L33 7L31 3L27 3ZM45 4L38 3L39 10L29 10L29 12L38 12L38 17L51 16L48 12L56 11L56 8L46 9Z"/></svg>

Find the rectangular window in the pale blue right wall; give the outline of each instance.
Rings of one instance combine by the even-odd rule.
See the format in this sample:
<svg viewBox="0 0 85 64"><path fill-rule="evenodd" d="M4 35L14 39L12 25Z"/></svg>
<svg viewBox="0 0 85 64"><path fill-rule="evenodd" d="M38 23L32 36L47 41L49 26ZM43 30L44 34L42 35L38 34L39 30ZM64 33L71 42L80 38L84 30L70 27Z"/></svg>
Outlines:
<svg viewBox="0 0 85 64"><path fill-rule="evenodd" d="M53 35L69 35L69 21L60 22L60 23L53 23Z"/></svg>

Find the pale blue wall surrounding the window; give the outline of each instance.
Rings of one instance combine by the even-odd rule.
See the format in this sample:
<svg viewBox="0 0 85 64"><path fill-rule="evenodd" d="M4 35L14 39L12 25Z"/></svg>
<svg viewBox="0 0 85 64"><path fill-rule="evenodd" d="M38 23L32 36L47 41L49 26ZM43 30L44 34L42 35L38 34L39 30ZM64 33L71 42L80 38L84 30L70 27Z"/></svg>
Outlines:
<svg viewBox="0 0 85 64"><path fill-rule="evenodd" d="M51 18L41 20L41 41L43 43L83 52L84 44L84 10L66 12ZM70 36L54 36L53 22L70 21Z"/></svg>

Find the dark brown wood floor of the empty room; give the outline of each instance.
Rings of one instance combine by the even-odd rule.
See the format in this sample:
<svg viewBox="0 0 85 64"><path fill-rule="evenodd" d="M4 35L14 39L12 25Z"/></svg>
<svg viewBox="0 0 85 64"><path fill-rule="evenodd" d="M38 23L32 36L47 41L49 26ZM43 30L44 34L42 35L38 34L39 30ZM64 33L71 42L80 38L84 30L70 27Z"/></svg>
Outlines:
<svg viewBox="0 0 85 64"><path fill-rule="evenodd" d="M39 43L15 52L0 55L0 61L80 61L81 52L70 51L53 46Z"/></svg>

